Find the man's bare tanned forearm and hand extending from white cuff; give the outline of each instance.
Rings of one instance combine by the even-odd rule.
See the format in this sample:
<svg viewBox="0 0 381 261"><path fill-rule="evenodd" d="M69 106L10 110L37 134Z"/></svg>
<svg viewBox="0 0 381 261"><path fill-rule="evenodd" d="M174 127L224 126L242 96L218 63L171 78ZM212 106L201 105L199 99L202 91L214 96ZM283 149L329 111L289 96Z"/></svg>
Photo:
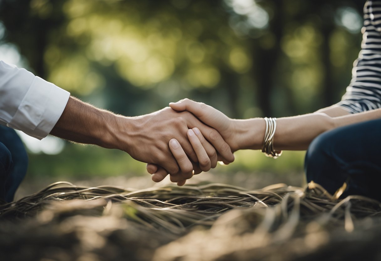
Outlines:
<svg viewBox="0 0 381 261"><path fill-rule="evenodd" d="M196 126L199 135L189 131ZM234 160L229 145L215 129L189 112L168 107L125 117L70 97L50 134L73 142L123 150L134 159L165 169L173 182L192 177L193 171L199 173L215 167L218 156L226 162Z"/></svg>

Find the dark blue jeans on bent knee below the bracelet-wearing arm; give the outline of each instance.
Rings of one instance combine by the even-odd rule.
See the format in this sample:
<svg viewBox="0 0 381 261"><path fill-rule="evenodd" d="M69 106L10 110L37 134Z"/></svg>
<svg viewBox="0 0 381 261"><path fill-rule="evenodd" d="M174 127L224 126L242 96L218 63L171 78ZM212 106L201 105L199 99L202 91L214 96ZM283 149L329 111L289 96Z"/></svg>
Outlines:
<svg viewBox="0 0 381 261"><path fill-rule="evenodd" d="M381 201L381 119L340 127L316 137L304 164L307 182L331 194L344 182L347 195Z"/></svg>

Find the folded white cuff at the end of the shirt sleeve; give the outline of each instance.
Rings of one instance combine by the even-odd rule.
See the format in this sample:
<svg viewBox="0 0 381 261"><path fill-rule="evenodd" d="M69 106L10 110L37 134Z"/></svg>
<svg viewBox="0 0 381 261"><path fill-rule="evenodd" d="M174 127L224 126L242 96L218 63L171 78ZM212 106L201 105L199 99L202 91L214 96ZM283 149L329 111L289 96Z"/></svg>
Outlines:
<svg viewBox="0 0 381 261"><path fill-rule="evenodd" d="M64 111L70 93L35 76L8 127L37 139L45 138Z"/></svg>

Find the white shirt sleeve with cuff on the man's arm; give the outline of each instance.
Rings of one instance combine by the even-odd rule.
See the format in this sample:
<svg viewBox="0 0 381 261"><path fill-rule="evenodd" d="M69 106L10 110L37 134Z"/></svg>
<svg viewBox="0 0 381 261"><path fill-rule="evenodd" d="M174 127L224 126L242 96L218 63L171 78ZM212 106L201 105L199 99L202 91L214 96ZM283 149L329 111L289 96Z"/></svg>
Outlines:
<svg viewBox="0 0 381 261"><path fill-rule="evenodd" d="M56 125L70 93L26 69L0 61L0 124L42 139Z"/></svg>

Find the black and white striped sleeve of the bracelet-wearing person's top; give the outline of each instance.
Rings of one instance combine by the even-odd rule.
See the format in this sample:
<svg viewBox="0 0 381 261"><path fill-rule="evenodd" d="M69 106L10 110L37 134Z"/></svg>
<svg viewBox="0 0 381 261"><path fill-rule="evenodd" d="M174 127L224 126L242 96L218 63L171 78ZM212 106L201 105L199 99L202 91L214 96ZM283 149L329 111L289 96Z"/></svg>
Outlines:
<svg viewBox="0 0 381 261"><path fill-rule="evenodd" d="M363 40L354 61L352 81L337 105L350 113L381 108L381 1L364 6Z"/></svg>

